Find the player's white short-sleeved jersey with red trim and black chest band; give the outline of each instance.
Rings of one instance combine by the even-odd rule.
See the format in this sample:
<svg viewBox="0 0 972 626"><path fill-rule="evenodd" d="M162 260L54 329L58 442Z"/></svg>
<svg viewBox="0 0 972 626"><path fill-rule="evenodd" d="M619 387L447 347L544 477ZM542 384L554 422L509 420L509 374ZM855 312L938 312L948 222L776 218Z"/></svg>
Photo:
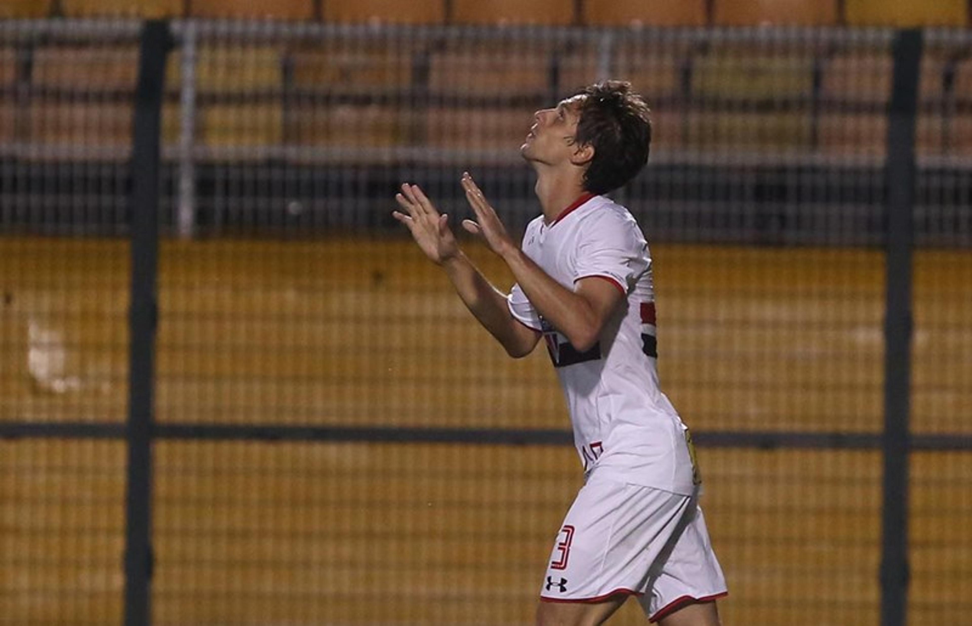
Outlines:
<svg viewBox="0 0 972 626"><path fill-rule="evenodd" d="M543 333L567 397L585 475L691 495L698 482L688 431L658 386L655 298L648 245L634 217L601 195L585 195L553 223L527 226L523 251L561 285L613 283L628 300L587 352L539 315L514 285L513 317Z"/></svg>

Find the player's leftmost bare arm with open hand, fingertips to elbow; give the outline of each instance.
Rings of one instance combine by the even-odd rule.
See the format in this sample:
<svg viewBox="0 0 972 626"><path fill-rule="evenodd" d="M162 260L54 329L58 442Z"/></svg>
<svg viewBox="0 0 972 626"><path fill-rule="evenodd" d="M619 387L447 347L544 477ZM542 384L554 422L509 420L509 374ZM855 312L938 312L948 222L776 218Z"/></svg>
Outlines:
<svg viewBox="0 0 972 626"><path fill-rule="evenodd" d="M415 243L430 261L442 267L456 292L479 323L490 332L511 357L530 354L539 333L517 322L506 307L506 296L463 254L448 224L448 216L439 214L434 204L417 186L404 184L396 194L403 210L393 217L408 227Z"/></svg>

